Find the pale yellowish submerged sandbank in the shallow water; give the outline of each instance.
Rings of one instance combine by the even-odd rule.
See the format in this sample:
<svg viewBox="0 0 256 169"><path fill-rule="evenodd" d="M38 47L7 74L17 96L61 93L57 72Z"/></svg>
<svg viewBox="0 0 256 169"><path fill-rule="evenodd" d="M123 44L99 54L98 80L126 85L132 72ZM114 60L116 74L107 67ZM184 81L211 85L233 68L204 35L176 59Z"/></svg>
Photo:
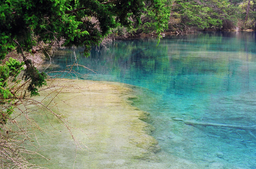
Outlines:
<svg viewBox="0 0 256 169"><path fill-rule="evenodd" d="M56 87L41 92L39 98L47 96L47 103L59 93L50 107L63 114L70 126L82 129L73 129L72 134L87 148L76 150L67 128L53 116L48 115L51 124L41 120L45 117L35 116L39 125L51 132L37 134L39 153L47 160L38 158L34 162L50 169L71 169L73 164L76 169L200 168L177 157L163 159L157 140L150 136L153 128L146 123L149 114L131 104L136 98L132 86L70 79L55 79L53 84Z"/></svg>

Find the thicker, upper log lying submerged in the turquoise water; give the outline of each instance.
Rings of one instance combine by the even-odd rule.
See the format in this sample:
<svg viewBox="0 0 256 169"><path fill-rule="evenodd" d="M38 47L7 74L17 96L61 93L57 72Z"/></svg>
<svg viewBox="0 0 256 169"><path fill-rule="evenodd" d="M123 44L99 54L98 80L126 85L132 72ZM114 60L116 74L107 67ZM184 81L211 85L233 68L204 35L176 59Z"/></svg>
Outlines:
<svg viewBox="0 0 256 169"><path fill-rule="evenodd" d="M203 126L214 126L214 127L227 127L227 128L236 128L245 131L254 131L256 130L256 125L231 125L231 124L222 124L222 123L208 123L200 122L195 120L183 120L181 118L172 118L172 120L180 121L186 125L203 125Z"/></svg>

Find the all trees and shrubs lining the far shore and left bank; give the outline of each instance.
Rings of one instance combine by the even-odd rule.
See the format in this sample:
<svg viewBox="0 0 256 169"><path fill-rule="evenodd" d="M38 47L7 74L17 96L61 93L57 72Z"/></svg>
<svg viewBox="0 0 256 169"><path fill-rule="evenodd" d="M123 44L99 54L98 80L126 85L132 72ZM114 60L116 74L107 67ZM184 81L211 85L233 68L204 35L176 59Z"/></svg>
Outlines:
<svg viewBox="0 0 256 169"><path fill-rule="evenodd" d="M255 0L1 0L1 168L34 166L27 157L37 152L24 144L30 140L28 131L39 126L28 117L34 112L28 105L43 107L71 130L65 119L33 98L48 78L37 70L38 60L51 59L54 47L82 46L88 57L92 46L115 38L156 35L160 40L163 33L248 29L256 29ZM14 116L15 110L21 113ZM17 122L22 115L26 127Z"/></svg>

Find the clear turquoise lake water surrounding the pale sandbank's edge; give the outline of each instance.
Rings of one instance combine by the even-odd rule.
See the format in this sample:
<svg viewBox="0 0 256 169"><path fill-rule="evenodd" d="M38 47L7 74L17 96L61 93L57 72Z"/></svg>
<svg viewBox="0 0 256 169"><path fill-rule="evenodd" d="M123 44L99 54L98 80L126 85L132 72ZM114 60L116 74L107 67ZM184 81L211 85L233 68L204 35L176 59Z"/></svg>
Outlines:
<svg viewBox="0 0 256 169"><path fill-rule="evenodd" d="M247 131L190 126L172 120L256 124L256 33L225 32L116 41L84 58L56 52L46 71L79 63L84 79L135 85L134 105L150 112L162 151L205 168L256 169L256 138ZM256 131L252 131L256 135ZM167 159L165 159L168 161Z"/></svg>

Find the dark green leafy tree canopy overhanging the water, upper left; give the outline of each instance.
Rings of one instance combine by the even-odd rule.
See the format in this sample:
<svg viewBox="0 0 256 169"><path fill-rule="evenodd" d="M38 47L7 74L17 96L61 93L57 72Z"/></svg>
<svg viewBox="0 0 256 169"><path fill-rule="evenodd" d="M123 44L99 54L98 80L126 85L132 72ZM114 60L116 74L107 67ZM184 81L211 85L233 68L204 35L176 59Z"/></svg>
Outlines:
<svg viewBox="0 0 256 169"><path fill-rule="evenodd" d="M110 29L131 27L131 19L141 23L145 3L160 23L164 16L160 15L159 0L2 0L1 58L17 47L14 40L23 50L31 51L33 36L44 42L64 38L65 46L84 46L88 55L91 46L99 44Z"/></svg>

